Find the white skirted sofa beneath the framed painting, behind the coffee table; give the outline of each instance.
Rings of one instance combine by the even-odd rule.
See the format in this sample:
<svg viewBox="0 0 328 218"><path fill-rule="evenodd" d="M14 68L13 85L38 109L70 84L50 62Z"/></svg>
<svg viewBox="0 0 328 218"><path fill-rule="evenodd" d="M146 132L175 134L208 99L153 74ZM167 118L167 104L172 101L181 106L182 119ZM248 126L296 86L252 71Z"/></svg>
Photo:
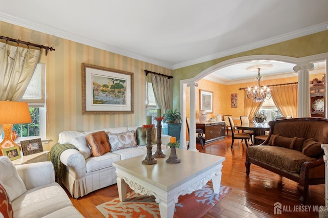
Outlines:
<svg viewBox="0 0 328 218"><path fill-rule="evenodd" d="M105 128L106 134L121 134L135 132L138 126ZM97 131L100 131L97 130ZM96 132L96 131L93 131ZM107 152L99 157L92 157L90 147L81 148L79 142L91 132L65 131L59 134L58 143L73 144L79 150L67 149L60 155L60 162L66 166L62 183L71 193L72 197L79 198L92 191L116 184L116 168L113 162L147 154L146 145L129 147ZM161 135L161 148L166 149L171 136ZM84 140L85 143L85 140ZM83 146L82 146L83 147ZM153 152L157 145L153 143Z"/></svg>

